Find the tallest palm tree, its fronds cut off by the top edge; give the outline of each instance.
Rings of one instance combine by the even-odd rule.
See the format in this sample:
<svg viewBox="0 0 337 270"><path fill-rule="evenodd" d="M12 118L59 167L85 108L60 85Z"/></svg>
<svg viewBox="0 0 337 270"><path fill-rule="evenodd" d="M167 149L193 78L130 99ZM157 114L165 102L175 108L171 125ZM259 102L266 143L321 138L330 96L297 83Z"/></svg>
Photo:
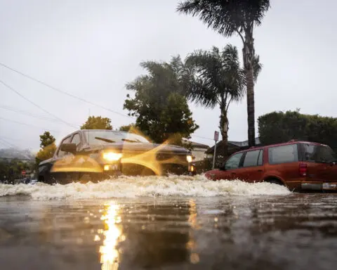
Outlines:
<svg viewBox="0 0 337 270"><path fill-rule="evenodd" d="M249 146L255 146L253 28L261 24L263 16L269 8L270 0L186 0L178 4L178 12L198 16L208 27L225 37L238 34L242 39Z"/></svg>

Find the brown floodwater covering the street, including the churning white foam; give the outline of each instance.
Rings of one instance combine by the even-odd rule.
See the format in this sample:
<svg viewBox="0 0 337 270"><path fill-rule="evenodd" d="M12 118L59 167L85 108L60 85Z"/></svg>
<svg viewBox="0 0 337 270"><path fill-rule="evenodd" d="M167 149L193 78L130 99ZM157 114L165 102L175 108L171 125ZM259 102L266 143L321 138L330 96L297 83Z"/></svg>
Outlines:
<svg viewBox="0 0 337 270"><path fill-rule="evenodd" d="M0 184L1 269L336 269L336 195L203 176Z"/></svg>

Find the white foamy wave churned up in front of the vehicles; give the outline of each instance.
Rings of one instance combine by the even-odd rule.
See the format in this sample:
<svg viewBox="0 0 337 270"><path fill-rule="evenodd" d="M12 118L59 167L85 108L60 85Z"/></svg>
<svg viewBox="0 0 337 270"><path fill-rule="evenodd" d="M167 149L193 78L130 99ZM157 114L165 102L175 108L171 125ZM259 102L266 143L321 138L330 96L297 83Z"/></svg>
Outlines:
<svg viewBox="0 0 337 270"><path fill-rule="evenodd" d="M6 185L0 184L0 197L29 195L34 200L136 198L157 196L210 197L221 195L286 195L284 186L243 181L209 181L204 176L121 176L99 183L72 183L67 185Z"/></svg>

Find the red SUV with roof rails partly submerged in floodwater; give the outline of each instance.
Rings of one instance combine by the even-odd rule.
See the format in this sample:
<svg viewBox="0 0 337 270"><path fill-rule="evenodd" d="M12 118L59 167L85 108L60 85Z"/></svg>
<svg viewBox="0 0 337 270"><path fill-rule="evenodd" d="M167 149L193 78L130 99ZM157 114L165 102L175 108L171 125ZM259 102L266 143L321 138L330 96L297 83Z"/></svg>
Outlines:
<svg viewBox="0 0 337 270"><path fill-rule="evenodd" d="M234 153L223 167L206 172L212 180L270 182L293 190L337 191L337 155L320 143L291 140Z"/></svg>

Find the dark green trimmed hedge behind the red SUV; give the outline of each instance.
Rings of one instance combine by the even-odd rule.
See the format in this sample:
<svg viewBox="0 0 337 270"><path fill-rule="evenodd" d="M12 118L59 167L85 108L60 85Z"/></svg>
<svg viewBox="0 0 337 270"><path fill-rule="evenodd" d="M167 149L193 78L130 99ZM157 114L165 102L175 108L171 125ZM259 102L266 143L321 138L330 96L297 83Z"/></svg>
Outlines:
<svg viewBox="0 0 337 270"><path fill-rule="evenodd" d="M303 115L299 110L267 113L258 117L258 131L264 145L301 139L337 150L337 118L333 117Z"/></svg>

